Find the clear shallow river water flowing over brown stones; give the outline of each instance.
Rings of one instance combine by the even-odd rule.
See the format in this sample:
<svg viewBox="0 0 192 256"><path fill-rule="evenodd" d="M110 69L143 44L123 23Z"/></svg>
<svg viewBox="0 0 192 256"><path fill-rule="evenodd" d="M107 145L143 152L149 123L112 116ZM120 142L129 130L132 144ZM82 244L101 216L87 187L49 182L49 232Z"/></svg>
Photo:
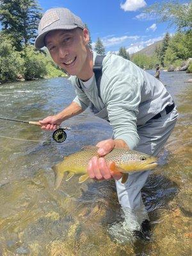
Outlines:
<svg viewBox="0 0 192 256"><path fill-rule="evenodd" d="M0 120L0 255L191 255L189 78L185 72L161 72L180 115L159 155L161 165L143 188L152 224L149 242L128 236L121 241L109 233L123 221L113 180L78 184L75 177L54 191L51 166L109 138L107 122L85 111L65 122L71 131L64 143L56 143L52 132ZM75 94L67 79L55 78L1 84L0 95L0 116L35 121L63 109Z"/></svg>

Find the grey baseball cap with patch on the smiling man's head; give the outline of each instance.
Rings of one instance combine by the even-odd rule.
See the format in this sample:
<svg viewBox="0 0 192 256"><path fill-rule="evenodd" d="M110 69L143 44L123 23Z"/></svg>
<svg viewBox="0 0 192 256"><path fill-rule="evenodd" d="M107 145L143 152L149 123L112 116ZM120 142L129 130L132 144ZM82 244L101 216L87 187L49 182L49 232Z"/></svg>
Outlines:
<svg viewBox="0 0 192 256"><path fill-rule="evenodd" d="M38 36L35 40L36 49L41 49L45 46L45 35L47 35L49 31L74 28L84 29L84 24L82 20L74 15L74 13L70 12L70 10L66 8L52 8L47 10L38 26Z"/></svg>

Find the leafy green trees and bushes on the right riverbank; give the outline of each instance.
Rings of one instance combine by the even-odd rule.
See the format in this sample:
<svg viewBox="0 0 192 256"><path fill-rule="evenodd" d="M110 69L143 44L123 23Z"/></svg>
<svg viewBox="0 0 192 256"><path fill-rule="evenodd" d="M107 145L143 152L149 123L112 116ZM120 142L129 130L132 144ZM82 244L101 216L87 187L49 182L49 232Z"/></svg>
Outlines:
<svg viewBox="0 0 192 256"><path fill-rule="evenodd" d="M155 63L164 68L186 65L186 61L192 58L192 4L180 4L179 1L158 2L145 8L143 13L157 17L159 22L168 22L170 26L176 27L177 32L172 36L166 33L153 56L134 54L131 60L141 68L148 69L154 68ZM187 72L192 72L192 63L188 63Z"/></svg>

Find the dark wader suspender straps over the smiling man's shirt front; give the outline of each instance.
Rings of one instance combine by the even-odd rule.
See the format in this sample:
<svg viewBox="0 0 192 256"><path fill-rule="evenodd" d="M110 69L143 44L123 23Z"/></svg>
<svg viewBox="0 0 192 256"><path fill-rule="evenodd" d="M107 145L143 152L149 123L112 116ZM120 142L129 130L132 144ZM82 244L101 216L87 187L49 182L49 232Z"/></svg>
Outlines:
<svg viewBox="0 0 192 256"><path fill-rule="evenodd" d="M98 96L100 98L100 80L102 77L102 61L105 58L106 55L97 55L95 58L95 65L93 65L93 72L95 74L95 80L96 80L96 84L97 84L97 92L98 92ZM83 88L81 87L81 83L79 81L79 78L76 79L76 83L77 86L83 90Z"/></svg>

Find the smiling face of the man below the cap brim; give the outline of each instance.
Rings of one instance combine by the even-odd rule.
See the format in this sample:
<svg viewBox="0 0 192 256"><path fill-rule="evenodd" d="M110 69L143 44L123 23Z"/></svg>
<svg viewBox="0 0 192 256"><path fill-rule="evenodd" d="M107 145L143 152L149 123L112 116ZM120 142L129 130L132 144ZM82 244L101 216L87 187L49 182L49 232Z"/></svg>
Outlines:
<svg viewBox="0 0 192 256"><path fill-rule="evenodd" d="M52 60L72 76L82 78L86 72L89 36L87 29L54 30L45 36Z"/></svg>

